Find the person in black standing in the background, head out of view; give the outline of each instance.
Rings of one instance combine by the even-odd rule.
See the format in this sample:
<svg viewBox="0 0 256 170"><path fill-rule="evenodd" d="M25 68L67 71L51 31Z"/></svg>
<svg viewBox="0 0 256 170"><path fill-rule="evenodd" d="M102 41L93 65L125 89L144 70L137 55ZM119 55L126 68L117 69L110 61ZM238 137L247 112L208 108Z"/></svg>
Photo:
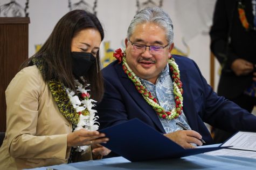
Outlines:
<svg viewBox="0 0 256 170"><path fill-rule="evenodd" d="M256 0L218 0L210 31L211 51L222 65L218 95L250 113L256 104L255 13ZM217 143L232 135L219 129L214 131Z"/></svg>

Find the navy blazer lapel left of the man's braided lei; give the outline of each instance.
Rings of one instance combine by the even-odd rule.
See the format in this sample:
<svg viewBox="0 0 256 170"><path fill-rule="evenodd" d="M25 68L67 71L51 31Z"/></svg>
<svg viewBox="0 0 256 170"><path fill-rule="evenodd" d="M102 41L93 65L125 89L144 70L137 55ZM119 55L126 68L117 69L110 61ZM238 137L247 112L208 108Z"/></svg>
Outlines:
<svg viewBox="0 0 256 170"><path fill-rule="evenodd" d="M142 95L136 90L133 82L128 78L126 73L124 73L122 69L122 65L118 64L115 67L117 74L120 77L121 83L129 92L130 96L137 102L138 106L144 110L144 112L150 117L150 119L156 124L156 126L161 130L161 132L165 133L163 129L162 123L160 122L155 110L147 104L147 102L143 99Z"/></svg>

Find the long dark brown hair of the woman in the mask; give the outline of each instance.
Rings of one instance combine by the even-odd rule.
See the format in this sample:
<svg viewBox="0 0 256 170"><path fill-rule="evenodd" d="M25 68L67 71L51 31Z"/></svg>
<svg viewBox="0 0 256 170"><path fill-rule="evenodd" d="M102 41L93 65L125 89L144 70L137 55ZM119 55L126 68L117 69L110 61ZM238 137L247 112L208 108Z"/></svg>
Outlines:
<svg viewBox="0 0 256 170"><path fill-rule="evenodd" d="M75 91L74 75L72 73L71 42L75 35L82 29L95 28L100 32L101 41L104 32L99 19L95 14L84 10L70 11L63 16L54 27L51 35L39 51L25 61L21 69L32 65L34 57L43 58L43 78L48 80L60 80L67 88ZM103 78L101 75L99 50L96 54L96 62L84 75L87 84L90 84L91 97L100 101L103 97Z"/></svg>

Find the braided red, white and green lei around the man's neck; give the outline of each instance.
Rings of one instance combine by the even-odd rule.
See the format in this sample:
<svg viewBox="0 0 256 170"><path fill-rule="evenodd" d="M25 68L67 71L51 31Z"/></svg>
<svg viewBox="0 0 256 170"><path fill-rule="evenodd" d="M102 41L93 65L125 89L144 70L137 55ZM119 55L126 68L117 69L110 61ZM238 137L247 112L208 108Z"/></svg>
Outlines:
<svg viewBox="0 0 256 170"><path fill-rule="evenodd" d="M154 98L151 93L147 90L145 86L142 85L140 79L135 75L132 69L129 68L129 65L126 62L126 53L125 51L119 48L115 50L113 56L119 61L119 64L122 61L122 67L124 72L127 74L130 80L134 83L137 91L142 95L144 100L153 107L156 111L157 115L162 119L177 119L179 115L182 113L183 107L183 89L182 89L182 82L179 76L179 69L178 65L175 63L175 60L172 56L169 57L168 64L170 71L172 72L172 85L174 86L174 98L175 98L175 107L172 108L170 111L165 111L163 107L161 107L156 98Z"/></svg>

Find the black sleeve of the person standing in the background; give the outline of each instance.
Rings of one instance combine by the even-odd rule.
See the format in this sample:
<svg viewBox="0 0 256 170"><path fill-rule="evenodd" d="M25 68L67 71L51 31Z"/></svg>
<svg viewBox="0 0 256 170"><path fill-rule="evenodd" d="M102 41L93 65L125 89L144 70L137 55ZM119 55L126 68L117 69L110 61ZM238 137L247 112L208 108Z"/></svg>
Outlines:
<svg viewBox="0 0 256 170"><path fill-rule="evenodd" d="M210 30L211 51L216 56L224 71L230 69L234 60L239 58L229 44L231 21L234 16L234 4L236 1L218 0L213 13L213 24Z"/></svg>

